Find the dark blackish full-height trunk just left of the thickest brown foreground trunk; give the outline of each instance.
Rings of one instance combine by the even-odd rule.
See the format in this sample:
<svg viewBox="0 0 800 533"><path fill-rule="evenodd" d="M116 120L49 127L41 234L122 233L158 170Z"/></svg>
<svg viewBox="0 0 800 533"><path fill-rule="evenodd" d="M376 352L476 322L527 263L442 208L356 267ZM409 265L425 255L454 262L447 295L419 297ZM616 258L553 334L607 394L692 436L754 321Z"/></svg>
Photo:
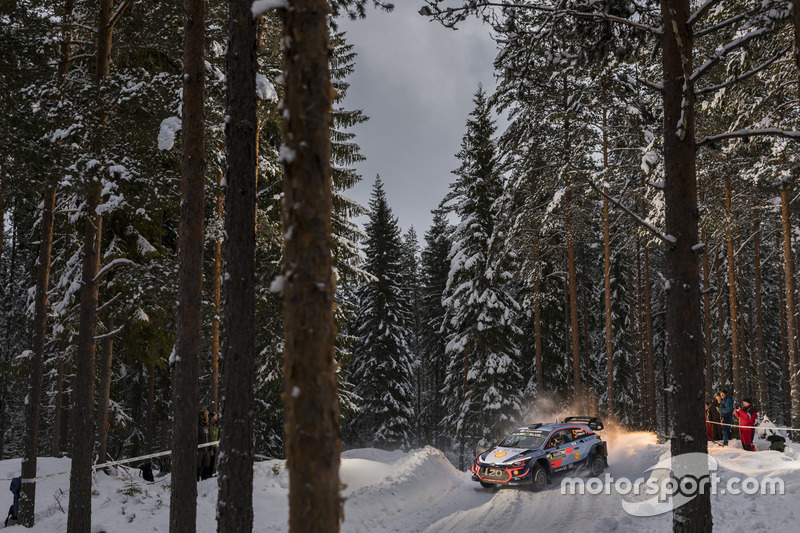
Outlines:
<svg viewBox="0 0 800 533"><path fill-rule="evenodd" d="M225 126L227 236L223 253L223 398L217 531L238 532L253 528L253 423L249 413L254 371L257 27L249 1L231 0L228 6L226 113L230 118Z"/></svg>

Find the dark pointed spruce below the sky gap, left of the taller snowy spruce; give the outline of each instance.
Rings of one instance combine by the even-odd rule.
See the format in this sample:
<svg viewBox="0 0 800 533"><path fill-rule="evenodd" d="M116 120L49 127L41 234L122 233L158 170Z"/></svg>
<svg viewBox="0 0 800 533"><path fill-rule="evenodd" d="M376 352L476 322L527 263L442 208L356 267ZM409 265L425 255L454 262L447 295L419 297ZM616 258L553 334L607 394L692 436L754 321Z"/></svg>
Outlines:
<svg viewBox="0 0 800 533"><path fill-rule="evenodd" d="M358 290L350 382L360 399L349 435L351 444L406 448L414 417L410 305L400 226L380 177L375 180L369 209L364 268L373 278Z"/></svg>

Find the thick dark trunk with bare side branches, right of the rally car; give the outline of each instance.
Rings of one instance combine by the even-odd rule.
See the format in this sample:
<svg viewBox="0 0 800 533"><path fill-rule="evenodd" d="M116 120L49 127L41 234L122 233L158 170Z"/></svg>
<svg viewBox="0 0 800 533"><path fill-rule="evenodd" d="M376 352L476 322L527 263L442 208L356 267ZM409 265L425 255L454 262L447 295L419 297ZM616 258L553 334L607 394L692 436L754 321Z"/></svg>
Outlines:
<svg viewBox="0 0 800 533"><path fill-rule="evenodd" d="M674 238L666 250L667 354L674 380L671 402L673 471L708 475L708 463L682 468L676 456L706 453L703 413L703 348L700 344L700 272L697 252L699 211L689 0L662 0L664 72L664 204L667 233ZM697 470L695 470L697 469ZM712 531L710 491L701 491L673 510L675 533Z"/></svg>

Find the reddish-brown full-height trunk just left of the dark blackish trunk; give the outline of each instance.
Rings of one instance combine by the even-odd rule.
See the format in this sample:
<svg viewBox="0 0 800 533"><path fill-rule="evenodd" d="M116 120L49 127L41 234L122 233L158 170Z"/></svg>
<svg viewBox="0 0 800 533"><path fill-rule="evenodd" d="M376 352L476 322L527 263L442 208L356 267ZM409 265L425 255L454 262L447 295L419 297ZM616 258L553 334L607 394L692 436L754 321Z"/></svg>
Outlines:
<svg viewBox="0 0 800 533"><path fill-rule="evenodd" d="M183 146L178 317L172 368L170 533L194 533L197 527L198 378L203 325L204 0L184 0L183 12Z"/></svg>

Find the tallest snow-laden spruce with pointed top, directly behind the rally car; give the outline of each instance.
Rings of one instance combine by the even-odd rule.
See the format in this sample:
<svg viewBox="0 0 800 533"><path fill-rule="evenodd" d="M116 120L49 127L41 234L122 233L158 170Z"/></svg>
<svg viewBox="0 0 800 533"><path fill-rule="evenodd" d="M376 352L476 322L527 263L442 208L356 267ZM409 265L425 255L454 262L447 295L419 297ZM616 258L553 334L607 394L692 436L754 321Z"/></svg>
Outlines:
<svg viewBox="0 0 800 533"><path fill-rule="evenodd" d="M493 135L495 124L483 88L457 154L458 176L447 198L460 219L452 234L450 273L443 304L448 329L445 421L464 454L488 446L521 409L519 304L506 291L511 274L490 253L503 188Z"/></svg>

